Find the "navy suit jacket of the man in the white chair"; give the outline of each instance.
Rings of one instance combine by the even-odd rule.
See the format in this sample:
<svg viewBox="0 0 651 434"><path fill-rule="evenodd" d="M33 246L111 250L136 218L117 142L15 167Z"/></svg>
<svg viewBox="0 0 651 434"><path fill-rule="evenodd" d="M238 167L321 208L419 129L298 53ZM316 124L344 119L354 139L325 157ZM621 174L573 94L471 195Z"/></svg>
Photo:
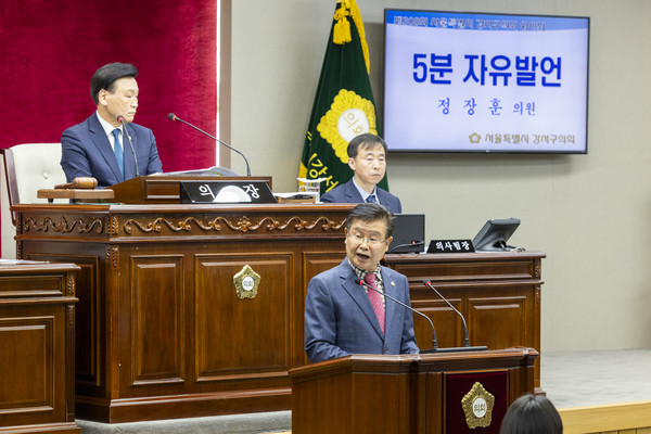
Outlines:
<svg viewBox="0 0 651 434"><path fill-rule="evenodd" d="M156 139L151 129L136 124L127 124L127 131L138 157L138 173L141 176L163 171L158 158ZM68 182L77 177L93 177L98 187L105 188L136 177L136 163L131 146L123 138L125 176L123 178L117 158L108 137L102 128L98 114L92 114L81 124L63 131L61 137L61 167Z"/></svg>

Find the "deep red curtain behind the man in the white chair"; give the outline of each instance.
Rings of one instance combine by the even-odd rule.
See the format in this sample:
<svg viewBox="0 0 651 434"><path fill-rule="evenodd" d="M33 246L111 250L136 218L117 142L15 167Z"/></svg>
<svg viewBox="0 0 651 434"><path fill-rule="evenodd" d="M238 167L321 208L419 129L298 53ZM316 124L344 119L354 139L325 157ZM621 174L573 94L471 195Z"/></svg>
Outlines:
<svg viewBox="0 0 651 434"><path fill-rule="evenodd" d="M2 0L0 148L59 142L94 112L95 69L125 62L164 171L213 166L215 142L167 114L215 133L216 21L216 0Z"/></svg>

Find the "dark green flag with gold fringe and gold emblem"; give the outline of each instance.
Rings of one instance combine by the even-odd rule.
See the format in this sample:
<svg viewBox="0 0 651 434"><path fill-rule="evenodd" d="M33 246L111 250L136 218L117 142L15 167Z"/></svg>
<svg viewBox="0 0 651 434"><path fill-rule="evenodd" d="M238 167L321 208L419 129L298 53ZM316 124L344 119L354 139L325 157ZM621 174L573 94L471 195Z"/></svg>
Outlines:
<svg viewBox="0 0 651 434"><path fill-rule="evenodd" d="M347 182L353 178L348 142L379 130L361 14L355 0L342 0L334 12L298 176L324 178L321 193ZM379 187L388 190L386 176Z"/></svg>

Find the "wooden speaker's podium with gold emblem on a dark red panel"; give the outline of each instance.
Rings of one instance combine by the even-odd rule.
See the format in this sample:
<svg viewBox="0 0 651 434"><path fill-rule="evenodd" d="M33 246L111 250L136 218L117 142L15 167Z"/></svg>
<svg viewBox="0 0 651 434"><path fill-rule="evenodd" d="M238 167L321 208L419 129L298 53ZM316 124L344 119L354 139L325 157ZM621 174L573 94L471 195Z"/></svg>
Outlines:
<svg viewBox="0 0 651 434"><path fill-rule="evenodd" d="M497 434L534 391L533 348L354 355L292 369L292 433Z"/></svg>

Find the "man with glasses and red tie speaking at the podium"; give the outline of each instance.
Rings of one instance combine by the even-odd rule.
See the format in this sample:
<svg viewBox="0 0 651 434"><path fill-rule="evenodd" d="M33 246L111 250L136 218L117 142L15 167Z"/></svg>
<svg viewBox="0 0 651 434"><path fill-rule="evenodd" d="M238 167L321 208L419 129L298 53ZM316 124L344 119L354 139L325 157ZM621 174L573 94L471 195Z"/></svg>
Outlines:
<svg viewBox="0 0 651 434"><path fill-rule="evenodd" d="M305 353L311 361L419 352L411 310L383 296L410 305L407 278L380 265L393 228L393 215L376 203L359 204L347 216L346 258L307 288Z"/></svg>

